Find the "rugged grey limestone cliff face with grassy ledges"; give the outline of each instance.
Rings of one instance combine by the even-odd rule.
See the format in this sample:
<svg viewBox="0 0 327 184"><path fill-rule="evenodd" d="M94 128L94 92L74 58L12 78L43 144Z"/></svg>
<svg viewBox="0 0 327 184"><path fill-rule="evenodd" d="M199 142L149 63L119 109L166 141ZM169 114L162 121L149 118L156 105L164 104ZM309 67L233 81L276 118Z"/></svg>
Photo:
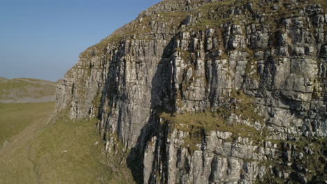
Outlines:
<svg viewBox="0 0 327 184"><path fill-rule="evenodd" d="M99 118L136 183L326 182L326 6L162 1L80 54L56 113Z"/></svg>

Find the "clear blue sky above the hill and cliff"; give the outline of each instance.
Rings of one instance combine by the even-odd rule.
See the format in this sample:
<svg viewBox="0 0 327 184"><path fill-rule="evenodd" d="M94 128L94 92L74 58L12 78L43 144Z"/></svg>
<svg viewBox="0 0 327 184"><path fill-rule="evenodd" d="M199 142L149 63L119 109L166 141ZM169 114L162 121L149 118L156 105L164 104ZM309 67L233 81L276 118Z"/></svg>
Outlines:
<svg viewBox="0 0 327 184"><path fill-rule="evenodd" d="M0 2L0 77L57 81L80 52L159 0Z"/></svg>

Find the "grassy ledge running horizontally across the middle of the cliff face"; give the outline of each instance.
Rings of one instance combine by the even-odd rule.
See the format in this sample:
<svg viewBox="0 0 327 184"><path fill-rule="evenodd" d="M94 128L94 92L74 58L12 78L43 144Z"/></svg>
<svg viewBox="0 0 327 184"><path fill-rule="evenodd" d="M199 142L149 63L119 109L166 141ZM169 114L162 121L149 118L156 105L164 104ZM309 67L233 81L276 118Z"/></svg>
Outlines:
<svg viewBox="0 0 327 184"><path fill-rule="evenodd" d="M177 130L189 133L189 136L184 138L184 146L187 146L190 151L198 150L196 144L201 144L203 134L211 131L231 132L233 135L228 141L233 141L238 137L249 137L254 143L261 144L261 141L266 138L266 130L259 131L248 125L228 123L221 112L198 112L195 114L162 112L159 116L163 118L163 123L168 123Z"/></svg>

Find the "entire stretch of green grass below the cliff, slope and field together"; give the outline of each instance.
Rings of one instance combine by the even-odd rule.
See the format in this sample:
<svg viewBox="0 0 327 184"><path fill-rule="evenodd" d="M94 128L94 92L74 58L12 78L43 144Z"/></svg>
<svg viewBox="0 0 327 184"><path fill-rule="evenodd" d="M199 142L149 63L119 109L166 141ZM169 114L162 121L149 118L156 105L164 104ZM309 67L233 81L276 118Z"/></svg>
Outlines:
<svg viewBox="0 0 327 184"><path fill-rule="evenodd" d="M95 119L47 123L53 105L0 105L0 183L133 183L106 161Z"/></svg>

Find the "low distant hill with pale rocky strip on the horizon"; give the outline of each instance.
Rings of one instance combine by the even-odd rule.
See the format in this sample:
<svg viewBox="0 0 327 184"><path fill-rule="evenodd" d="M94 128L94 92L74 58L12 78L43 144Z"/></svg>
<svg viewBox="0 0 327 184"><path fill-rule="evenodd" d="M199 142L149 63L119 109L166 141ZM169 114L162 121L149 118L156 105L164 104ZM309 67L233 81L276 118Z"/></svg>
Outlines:
<svg viewBox="0 0 327 184"><path fill-rule="evenodd" d="M0 102L52 102L55 89L56 82L43 79L0 77Z"/></svg>

